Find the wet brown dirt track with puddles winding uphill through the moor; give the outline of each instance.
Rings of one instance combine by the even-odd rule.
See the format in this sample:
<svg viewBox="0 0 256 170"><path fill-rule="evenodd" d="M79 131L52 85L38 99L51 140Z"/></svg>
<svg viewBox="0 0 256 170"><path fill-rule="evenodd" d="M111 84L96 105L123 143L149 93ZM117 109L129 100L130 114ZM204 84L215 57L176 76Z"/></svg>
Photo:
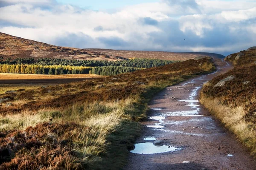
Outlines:
<svg viewBox="0 0 256 170"><path fill-rule="evenodd" d="M231 68L220 60L216 60L216 64L217 72L166 88L149 104L149 119L142 122L145 125L143 136L137 143L150 144L144 149L135 145L135 150L157 152L160 145L167 145L169 149L174 146L177 150L155 154L130 153L125 170L256 170L256 161L246 148L209 116L199 102L193 101L198 99L204 82ZM183 99L192 100L180 101ZM144 140L147 137L156 138L160 145L152 144L156 140Z"/></svg>

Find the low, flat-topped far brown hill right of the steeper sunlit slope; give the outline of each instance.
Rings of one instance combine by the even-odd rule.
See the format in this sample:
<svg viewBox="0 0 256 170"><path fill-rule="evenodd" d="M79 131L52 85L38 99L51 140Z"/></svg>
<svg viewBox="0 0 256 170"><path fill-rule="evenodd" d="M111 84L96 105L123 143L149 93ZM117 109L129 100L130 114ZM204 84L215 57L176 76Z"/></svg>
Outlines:
<svg viewBox="0 0 256 170"><path fill-rule="evenodd" d="M165 51L128 51L128 50L111 50L111 49L99 49L99 48L90 48L88 50L96 51L102 54L108 54L110 56L120 56L127 59L128 58L151 58L151 59L184 61L187 59L194 59L195 57L198 57L198 56L224 58L224 56L221 54L200 53L200 52L174 53L174 52L165 52Z"/></svg>

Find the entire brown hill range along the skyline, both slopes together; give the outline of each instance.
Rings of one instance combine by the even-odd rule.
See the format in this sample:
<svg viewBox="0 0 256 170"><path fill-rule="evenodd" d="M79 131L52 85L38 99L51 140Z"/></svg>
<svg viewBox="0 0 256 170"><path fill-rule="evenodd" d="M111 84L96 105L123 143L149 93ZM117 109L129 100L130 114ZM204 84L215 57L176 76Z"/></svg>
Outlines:
<svg viewBox="0 0 256 170"><path fill-rule="evenodd" d="M128 58L152 58L165 60L187 60L198 56L224 58L214 53L174 53L165 51L127 51L99 48L70 48L27 40L9 34L0 33L0 57L4 58L63 58L87 60L122 60Z"/></svg>

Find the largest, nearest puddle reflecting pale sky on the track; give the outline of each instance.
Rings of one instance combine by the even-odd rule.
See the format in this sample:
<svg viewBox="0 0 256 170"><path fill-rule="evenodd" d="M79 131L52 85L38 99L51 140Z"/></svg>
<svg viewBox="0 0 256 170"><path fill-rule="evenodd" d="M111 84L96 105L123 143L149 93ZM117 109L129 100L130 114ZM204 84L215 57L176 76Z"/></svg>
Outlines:
<svg viewBox="0 0 256 170"><path fill-rule="evenodd" d="M165 153L170 151L178 150L177 147L174 146L155 146L153 143L139 143L135 144L135 149L131 150L131 153L138 153L138 154L154 154L154 153Z"/></svg>

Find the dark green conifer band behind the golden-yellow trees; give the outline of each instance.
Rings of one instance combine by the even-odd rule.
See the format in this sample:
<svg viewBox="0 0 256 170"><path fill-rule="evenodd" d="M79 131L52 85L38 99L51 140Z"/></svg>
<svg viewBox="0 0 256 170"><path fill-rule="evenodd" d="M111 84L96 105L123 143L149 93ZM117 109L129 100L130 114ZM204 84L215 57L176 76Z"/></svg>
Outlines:
<svg viewBox="0 0 256 170"><path fill-rule="evenodd" d="M177 61L161 60L161 59L128 59L120 61L106 60L78 60L78 59L52 59L52 58L16 58L3 59L0 58L0 64L35 64L35 65L72 65L84 67L102 67L102 66L120 66L134 68L151 68L161 65L171 64Z"/></svg>

